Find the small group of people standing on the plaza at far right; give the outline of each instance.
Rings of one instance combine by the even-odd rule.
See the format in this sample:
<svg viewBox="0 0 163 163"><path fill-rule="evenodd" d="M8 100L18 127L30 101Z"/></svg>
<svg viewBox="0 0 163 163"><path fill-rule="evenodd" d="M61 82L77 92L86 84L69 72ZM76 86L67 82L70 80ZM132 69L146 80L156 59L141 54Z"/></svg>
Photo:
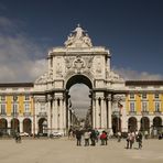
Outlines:
<svg viewBox="0 0 163 163"><path fill-rule="evenodd" d="M127 149L132 149L133 143L138 142L138 149L142 149L142 133L141 131L129 132L127 137Z"/></svg>

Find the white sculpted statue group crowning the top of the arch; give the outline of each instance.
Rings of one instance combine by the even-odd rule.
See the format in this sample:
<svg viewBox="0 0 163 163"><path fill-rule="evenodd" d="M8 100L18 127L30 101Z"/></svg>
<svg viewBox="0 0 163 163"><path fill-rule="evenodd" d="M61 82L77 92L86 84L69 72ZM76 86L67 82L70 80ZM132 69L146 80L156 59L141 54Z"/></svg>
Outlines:
<svg viewBox="0 0 163 163"><path fill-rule="evenodd" d="M91 47L91 40L78 24L64 43L66 47Z"/></svg>

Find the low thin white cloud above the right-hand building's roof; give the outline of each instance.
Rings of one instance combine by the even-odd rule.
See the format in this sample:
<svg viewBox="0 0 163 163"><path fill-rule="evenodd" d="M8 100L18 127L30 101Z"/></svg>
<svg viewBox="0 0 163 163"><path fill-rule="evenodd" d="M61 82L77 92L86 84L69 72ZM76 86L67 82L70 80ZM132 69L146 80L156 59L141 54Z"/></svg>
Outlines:
<svg viewBox="0 0 163 163"><path fill-rule="evenodd" d="M151 74L148 72L137 72L131 68L113 68L126 80L161 80L163 76L160 74Z"/></svg>

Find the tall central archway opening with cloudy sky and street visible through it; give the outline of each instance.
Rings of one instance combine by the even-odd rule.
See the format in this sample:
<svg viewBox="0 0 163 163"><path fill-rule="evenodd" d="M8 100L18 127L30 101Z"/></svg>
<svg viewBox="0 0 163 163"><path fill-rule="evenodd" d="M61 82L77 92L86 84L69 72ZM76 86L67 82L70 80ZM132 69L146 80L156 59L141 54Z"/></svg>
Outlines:
<svg viewBox="0 0 163 163"><path fill-rule="evenodd" d="M68 109L72 111L70 128L91 128L91 96L93 84L84 75L70 77L66 84L68 93Z"/></svg>

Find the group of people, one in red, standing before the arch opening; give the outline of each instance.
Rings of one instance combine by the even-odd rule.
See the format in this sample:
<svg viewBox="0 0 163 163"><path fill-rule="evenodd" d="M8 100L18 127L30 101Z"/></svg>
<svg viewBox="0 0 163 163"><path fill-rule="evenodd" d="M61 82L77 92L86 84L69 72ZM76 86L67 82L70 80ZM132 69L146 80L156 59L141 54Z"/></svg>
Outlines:
<svg viewBox="0 0 163 163"><path fill-rule="evenodd" d="M96 145L96 143L101 141L101 145L107 145L108 135L106 131L102 131L99 133L98 130L76 130L76 145L82 145L82 138L84 138L84 144L85 146L88 145Z"/></svg>

